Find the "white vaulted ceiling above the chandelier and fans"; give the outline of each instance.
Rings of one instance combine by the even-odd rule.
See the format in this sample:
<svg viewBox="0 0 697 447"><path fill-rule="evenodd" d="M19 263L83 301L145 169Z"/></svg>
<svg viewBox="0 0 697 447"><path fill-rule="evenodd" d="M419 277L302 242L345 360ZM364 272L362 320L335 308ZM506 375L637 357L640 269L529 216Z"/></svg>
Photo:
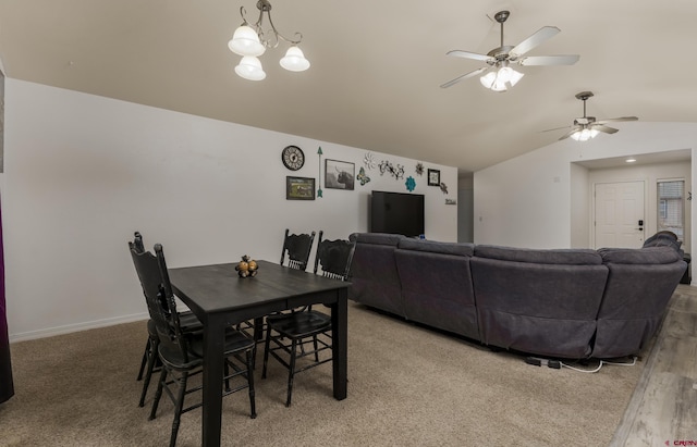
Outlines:
<svg viewBox="0 0 697 447"><path fill-rule="evenodd" d="M480 170L555 141L583 115L697 122L697 1L271 0L276 26L304 36L311 67L260 60L237 77L227 42L256 20L255 0L0 0L8 77L209 116L318 140ZM580 54L572 66L526 66L505 94L477 78L439 86L500 45L489 17L511 11L505 45L540 27L561 33L528 55ZM638 123L619 123L632 132ZM598 138L612 138L601 135Z"/></svg>

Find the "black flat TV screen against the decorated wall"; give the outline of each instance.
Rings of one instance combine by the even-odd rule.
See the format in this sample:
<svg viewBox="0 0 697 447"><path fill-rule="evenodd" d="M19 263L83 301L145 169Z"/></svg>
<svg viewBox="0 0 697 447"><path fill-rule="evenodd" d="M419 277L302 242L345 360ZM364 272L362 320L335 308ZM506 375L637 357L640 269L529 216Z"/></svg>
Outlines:
<svg viewBox="0 0 697 447"><path fill-rule="evenodd" d="M409 237L424 234L424 196L372 191L370 232L402 234Z"/></svg>

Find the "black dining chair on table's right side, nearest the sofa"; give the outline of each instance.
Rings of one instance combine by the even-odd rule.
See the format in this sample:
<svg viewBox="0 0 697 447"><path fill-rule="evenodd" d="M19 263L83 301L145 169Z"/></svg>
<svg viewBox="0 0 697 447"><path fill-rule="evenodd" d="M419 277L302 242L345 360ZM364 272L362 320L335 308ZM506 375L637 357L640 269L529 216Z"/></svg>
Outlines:
<svg viewBox="0 0 697 447"><path fill-rule="evenodd" d="M337 239L322 240L319 232L315 274L338 281L346 281L355 251L355 241ZM332 360L331 315L313 310L311 306L296 309L291 313L267 315L267 331L264 350L261 378L266 378L269 356L289 370L285 406L291 406L295 374ZM306 346L308 346L306 348ZM328 350L330 355L320 352ZM305 357L313 356L304 361ZM298 361L302 364L298 364Z"/></svg>

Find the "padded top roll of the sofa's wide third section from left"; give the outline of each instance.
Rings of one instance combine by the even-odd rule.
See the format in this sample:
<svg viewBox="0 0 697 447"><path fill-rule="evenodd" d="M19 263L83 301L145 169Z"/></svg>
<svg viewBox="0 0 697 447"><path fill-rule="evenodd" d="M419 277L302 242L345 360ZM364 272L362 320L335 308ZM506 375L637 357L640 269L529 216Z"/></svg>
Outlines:
<svg viewBox="0 0 697 447"><path fill-rule="evenodd" d="M536 264L599 265L602 258L590 249L552 249L539 250L530 248L499 247L478 245L475 247L478 258L499 259L502 261L529 262Z"/></svg>

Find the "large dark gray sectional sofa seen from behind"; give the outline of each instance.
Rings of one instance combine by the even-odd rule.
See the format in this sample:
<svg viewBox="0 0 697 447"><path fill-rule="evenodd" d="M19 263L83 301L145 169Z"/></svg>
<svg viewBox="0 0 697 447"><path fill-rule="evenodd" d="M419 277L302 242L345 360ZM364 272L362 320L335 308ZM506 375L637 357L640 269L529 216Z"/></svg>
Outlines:
<svg viewBox="0 0 697 447"><path fill-rule="evenodd" d="M536 250L355 233L350 298L484 345L639 353L687 264L671 246Z"/></svg>

